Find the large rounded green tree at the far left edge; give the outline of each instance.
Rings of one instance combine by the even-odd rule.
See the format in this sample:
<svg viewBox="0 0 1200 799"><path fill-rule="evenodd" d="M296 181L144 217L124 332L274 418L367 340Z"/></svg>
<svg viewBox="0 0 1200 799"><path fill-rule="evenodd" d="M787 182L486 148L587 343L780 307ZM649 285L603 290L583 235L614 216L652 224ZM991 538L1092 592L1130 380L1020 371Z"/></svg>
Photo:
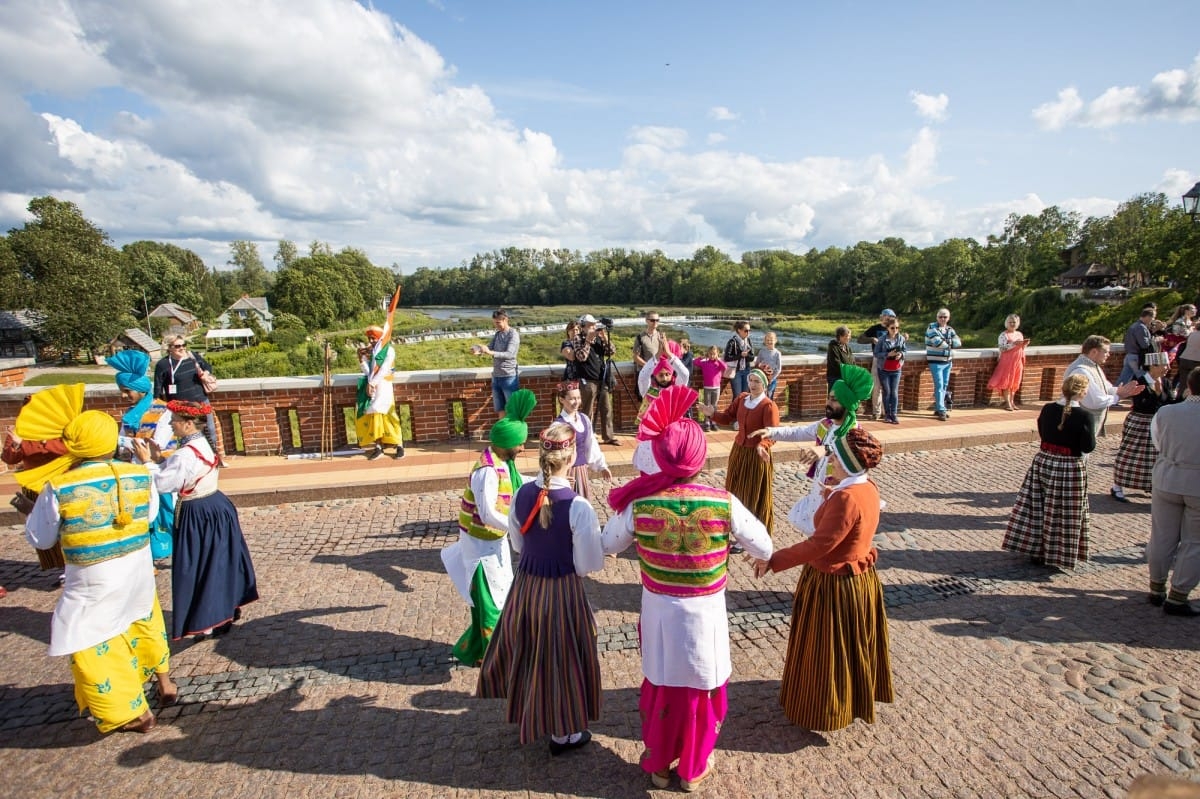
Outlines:
<svg viewBox="0 0 1200 799"><path fill-rule="evenodd" d="M8 232L22 278L37 284L28 305L41 312L48 342L95 350L133 322L120 254L73 203L37 197L29 212L30 222Z"/></svg>

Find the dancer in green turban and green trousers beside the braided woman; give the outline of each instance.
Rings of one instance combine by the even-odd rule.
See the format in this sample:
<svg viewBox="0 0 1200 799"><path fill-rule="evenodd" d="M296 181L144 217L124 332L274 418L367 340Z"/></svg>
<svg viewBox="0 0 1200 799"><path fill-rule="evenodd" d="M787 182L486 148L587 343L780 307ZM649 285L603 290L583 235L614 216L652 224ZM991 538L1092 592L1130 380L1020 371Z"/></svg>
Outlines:
<svg viewBox="0 0 1200 799"><path fill-rule="evenodd" d="M470 606L470 625L454 645L454 656L479 666L512 587L509 553L509 505L521 487L516 458L529 438L526 419L538 398L529 389L509 397L505 416L492 425L491 446L470 469L458 511L458 540L442 551L442 563Z"/></svg>

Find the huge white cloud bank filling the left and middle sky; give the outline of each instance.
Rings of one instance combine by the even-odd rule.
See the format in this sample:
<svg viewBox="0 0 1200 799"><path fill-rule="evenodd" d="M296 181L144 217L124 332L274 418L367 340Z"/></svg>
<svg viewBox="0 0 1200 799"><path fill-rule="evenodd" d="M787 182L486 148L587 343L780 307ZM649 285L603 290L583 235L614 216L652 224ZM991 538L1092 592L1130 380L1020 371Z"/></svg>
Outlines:
<svg viewBox="0 0 1200 799"><path fill-rule="evenodd" d="M611 168L581 169L550 132L499 115L427 42L358 2L209 0L203 18L184 0L113 5L0 6L0 43L14 48L0 47L0 222L19 224L30 197L55 194L118 244L174 241L211 264L232 239L264 254L290 239L410 270L509 245L672 256L895 235L925 245L976 235L979 218L1002 223L1024 202L972 216L930 199L946 180L930 127L892 161L773 161L716 149L721 133L700 144L682 127L634 126ZM1160 83L1164 96L1188 85ZM113 103L107 118L64 110L94 109L95 92ZM66 100L40 112L26 100L37 95ZM946 118L944 95L912 100Z"/></svg>

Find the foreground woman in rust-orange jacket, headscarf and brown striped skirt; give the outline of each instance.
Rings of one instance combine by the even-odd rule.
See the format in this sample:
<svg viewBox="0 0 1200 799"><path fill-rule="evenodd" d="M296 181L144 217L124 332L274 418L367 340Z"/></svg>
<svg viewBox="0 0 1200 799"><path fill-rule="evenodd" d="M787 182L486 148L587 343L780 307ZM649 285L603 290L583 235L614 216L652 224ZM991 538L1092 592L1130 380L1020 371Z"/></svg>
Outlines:
<svg viewBox="0 0 1200 799"><path fill-rule="evenodd" d="M758 577L804 564L779 702L792 723L817 731L841 729L854 719L875 723L875 703L894 698L888 617L875 572L880 553L871 545L880 489L868 476L883 445L856 427L832 449L833 483L812 537L755 564Z"/></svg>

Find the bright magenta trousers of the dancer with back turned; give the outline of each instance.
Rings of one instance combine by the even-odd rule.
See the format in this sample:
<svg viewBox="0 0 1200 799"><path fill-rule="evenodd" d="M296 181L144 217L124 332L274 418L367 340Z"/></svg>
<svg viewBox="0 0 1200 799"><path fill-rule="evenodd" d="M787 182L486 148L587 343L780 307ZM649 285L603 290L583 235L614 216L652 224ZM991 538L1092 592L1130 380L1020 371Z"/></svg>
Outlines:
<svg viewBox="0 0 1200 799"><path fill-rule="evenodd" d="M637 709L642 714L642 770L647 774L671 768L680 780L695 780L708 768L708 756L725 723L728 683L710 691L661 686L642 680Z"/></svg>

